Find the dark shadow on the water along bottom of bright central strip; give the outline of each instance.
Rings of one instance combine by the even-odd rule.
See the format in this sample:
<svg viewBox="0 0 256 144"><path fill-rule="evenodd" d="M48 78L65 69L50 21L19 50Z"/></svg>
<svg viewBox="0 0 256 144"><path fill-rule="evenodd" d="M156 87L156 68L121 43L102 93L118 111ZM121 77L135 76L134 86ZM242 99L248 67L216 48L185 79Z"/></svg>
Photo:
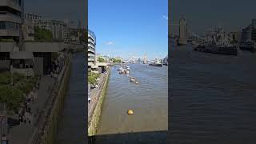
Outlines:
<svg viewBox="0 0 256 144"><path fill-rule="evenodd" d="M104 134L89 137L89 144L166 144L167 143L167 130L152 131L152 132L136 132L126 134Z"/></svg>

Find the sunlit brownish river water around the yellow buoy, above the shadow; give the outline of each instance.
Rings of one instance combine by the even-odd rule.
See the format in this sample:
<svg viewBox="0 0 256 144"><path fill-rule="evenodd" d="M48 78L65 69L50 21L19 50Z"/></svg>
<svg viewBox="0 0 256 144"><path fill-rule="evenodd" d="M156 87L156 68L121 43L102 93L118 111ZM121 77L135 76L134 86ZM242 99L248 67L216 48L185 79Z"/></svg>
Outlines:
<svg viewBox="0 0 256 144"><path fill-rule="evenodd" d="M130 82L111 67L110 80L102 107L98 135L162 131L168 129L168 67L130 64ZM127 110L134 110L128 115Z"/></svg>

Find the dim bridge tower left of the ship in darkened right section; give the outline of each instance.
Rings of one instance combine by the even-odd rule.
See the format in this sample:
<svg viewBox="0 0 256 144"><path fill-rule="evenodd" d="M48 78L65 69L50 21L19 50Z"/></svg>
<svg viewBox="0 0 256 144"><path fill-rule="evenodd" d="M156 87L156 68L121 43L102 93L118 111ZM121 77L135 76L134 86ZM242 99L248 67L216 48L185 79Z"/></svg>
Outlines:
<svg viewBox="0 0 256 144"><path fill-rule="evenodd" d="M186 20L185 18L181 18L179 20L179 38L178 38L178 44L179 45L186 45Z"/></svg>

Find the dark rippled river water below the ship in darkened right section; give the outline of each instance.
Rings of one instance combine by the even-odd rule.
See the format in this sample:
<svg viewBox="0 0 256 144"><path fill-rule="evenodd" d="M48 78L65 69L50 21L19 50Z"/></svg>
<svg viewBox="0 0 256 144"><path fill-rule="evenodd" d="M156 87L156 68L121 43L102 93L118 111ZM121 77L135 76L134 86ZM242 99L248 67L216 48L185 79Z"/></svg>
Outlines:
<svg viewBox="0 0 256 144"><path fill-rule="evenodd" d="M170 142L256 142L256 54L171 50Z"/></svg>

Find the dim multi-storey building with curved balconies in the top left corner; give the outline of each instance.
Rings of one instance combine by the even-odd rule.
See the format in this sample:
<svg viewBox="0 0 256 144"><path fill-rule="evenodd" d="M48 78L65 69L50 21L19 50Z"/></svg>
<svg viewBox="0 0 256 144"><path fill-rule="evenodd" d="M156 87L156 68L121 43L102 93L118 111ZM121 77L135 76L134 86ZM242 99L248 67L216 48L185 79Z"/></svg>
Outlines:
<svg viewBox="0 0 256 144"><path fill-rule="evenodd" d="M0 7L0 39L18 42L23 23L23 0L1 1Z"/></svg>

